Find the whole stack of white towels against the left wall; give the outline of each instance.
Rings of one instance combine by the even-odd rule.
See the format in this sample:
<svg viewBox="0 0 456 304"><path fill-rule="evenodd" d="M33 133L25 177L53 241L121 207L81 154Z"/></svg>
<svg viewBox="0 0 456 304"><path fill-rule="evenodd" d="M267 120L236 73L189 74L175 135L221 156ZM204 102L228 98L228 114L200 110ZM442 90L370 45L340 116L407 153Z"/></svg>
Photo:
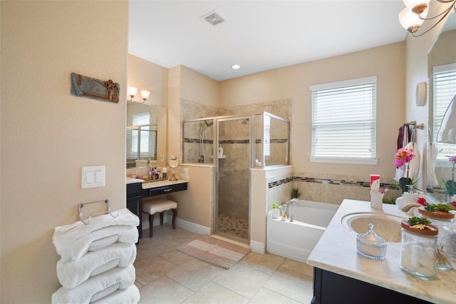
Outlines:
<svg viewBox="0 0 456 304"><path fill-rule="evenodd" d="M56 227L52 241L61 255L57 277L62 287L52 303L138 303L133 266L138 225L138 216L124 208L116 218L106 214L88 225Z"/></svg>

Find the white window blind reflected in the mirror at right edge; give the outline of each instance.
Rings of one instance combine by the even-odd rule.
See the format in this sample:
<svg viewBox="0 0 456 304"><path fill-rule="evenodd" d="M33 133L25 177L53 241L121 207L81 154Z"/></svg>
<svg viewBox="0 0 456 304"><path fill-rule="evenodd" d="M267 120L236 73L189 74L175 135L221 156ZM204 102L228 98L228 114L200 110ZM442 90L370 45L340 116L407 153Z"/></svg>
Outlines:
<svg viewBox="0 0 456 304"><path fill-rule="evenodd" d="M439 153L437 161L447 161L448 156L455 155L456 145L452 143L437 143L437 133L440 129L445 111L456 95L456 63L432 67L433 76L433 138Z"/></svg>

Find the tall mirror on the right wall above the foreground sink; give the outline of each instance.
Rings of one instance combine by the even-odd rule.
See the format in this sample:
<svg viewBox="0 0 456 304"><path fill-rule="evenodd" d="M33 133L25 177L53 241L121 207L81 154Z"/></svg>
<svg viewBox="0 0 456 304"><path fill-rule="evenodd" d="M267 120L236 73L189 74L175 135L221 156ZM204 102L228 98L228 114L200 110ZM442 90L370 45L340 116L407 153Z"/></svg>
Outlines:
<svg viewBox="0 0 456 304"><path fill-rule="evenodd" d="M428 86L428 134L427 193L437 201L450 200L456 195L454 186L455 168L450 156L456 155L456 144L437 142L440 123L450 101L456 94L456 14L445 21L442 31L427 55ZM452 80L451 80L452 79ZM432 168L434 173L432 174ZM448 187L450 186L450 187Z"/></svg>

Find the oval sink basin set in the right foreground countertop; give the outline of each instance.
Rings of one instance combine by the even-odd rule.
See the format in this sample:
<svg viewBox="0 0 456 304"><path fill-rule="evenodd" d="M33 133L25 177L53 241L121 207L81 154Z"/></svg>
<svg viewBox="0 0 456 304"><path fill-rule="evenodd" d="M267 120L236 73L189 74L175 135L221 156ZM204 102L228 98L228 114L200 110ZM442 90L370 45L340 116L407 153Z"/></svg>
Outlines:
<svg viewBox="0 0 456 304"><path fill-rule="evenodd" d="M366 233L369 223L375 226L375 233L389 243L400 243L400 221L405 218L385 213L348 213L341 219L342 225L355 233Z"/></svg>

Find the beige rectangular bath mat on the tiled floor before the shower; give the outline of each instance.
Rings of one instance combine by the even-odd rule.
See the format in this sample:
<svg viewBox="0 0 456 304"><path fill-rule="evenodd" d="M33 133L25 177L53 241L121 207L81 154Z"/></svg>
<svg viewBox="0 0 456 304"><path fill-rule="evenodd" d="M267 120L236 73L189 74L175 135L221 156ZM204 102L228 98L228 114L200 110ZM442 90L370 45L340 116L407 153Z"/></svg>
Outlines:
<svg viewBox="0 0 456 304"><path fill-rule="evenodd" d="M229 269L239 263L250 252L250 249L210 236L202 236L197 240L181 245L177 251L219 268Z"/></svg>

